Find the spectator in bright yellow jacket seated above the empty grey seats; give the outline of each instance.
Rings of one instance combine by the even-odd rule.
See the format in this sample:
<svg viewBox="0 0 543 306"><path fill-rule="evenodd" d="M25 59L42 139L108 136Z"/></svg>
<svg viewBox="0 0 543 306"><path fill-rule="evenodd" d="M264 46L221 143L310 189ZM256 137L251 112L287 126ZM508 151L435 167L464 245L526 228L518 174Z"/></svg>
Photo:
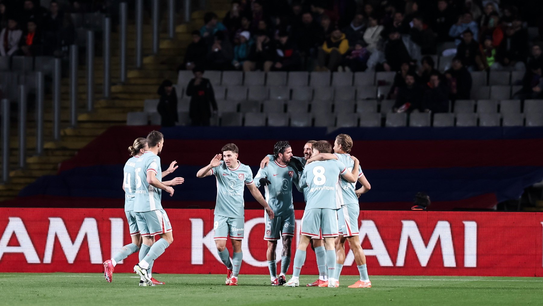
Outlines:
<svg viewBox="0 0 543 306"><path fill-rule="evenodd" d="M318 66L316 71L337 71L343 60L343 55L349 50L349 41L340 29L333 30L332 35L327 39L318 54Z"/></svg>

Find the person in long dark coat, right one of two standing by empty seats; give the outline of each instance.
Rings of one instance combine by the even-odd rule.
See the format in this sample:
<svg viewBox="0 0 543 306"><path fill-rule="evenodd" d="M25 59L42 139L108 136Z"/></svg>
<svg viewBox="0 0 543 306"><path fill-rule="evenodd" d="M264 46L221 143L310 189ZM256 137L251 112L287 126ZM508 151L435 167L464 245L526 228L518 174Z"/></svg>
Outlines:
<svg viewBox="0 0 543 306"><path fill-rule="evenodd" d="M204 70L194 68L194 78L188 82L186 95L191 97L189 116L192 126L209 126L211 108L217 113L215 93L209 79L204 78Z"/></svg>

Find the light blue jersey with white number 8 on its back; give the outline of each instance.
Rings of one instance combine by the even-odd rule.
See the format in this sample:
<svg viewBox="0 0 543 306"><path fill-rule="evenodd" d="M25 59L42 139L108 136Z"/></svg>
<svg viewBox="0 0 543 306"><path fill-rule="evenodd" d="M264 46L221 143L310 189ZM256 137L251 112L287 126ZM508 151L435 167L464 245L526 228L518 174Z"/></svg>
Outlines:
<svg viewBox="0 0 543 306"><path fill-rule="evenodd" d="M313 161L304 168L300 177L300 185L307 186L306 210L312 208L338 209L343 200L340 200L342 189L339 175L345 173L347 168L339 160Z"/></svg>

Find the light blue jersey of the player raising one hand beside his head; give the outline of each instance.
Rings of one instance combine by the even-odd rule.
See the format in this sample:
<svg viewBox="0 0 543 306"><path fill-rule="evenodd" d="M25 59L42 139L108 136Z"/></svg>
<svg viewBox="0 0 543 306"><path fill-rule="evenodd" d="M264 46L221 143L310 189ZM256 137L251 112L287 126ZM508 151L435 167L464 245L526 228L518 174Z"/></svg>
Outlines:
<svg viewBox="0 0 543 306"><path fill-rule="evenodd" d="M217 177L217 203L214 214L229 218L245 216L243 187L253 183L251 168L238 160L238 166L231 169L224 161L217 167L211 168L211 173Z"/></svg>

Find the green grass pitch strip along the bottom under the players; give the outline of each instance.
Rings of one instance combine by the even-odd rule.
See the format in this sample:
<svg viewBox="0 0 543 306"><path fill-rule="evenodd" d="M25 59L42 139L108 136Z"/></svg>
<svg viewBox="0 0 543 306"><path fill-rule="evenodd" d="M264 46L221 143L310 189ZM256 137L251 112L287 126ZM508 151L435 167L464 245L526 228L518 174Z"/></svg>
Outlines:
<svg viewBox="0 0 543 306"><path fill-rule="evenodd" d="M266 275L241 275L239 286L223 275L155 274L166 285L138 286L135 274L2 273L3 305L543 305L543 279L522 277L370 276L372 288L351 289L357 277L342 276L339 288L270 286ZM143 299L138 301L138 296Z"/></svg>

